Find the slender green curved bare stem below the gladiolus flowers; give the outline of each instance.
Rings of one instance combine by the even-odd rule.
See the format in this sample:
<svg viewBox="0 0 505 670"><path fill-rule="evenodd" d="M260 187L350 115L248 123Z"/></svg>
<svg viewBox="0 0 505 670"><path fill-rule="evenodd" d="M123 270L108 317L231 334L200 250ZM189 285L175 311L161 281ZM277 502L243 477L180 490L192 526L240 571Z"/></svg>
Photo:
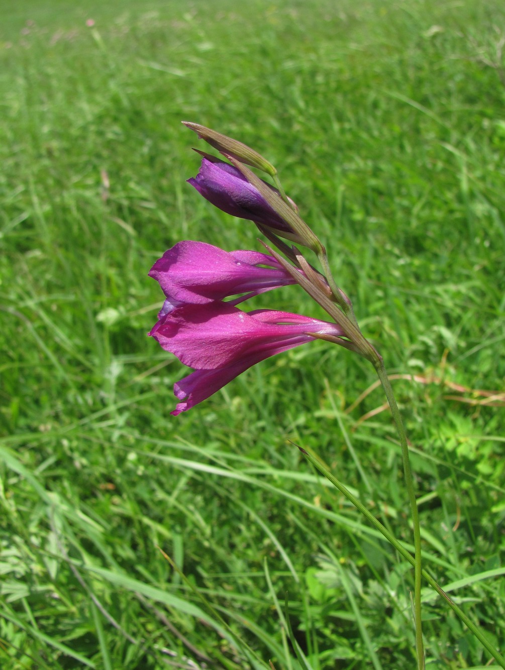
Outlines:
<svg viewBox="0 0 505 670"><path fill-rule="evenodd" d="M400 446L402 450L403 472L405 475L405 486L407 487L407 494L411 505L412 525L414 530L414 618L415 618L415 634L417 646L417 663L419 670L425 667L424 649L423 649L423 628L421 624L421 573L423 570L421 562L421 527L419 525L419 511L417 510L417 500L415 497L414 478L412 475L411 461L409 458L409 445L407 444L407 433L403 425L402 417L396 399L392 391L389 377L384 367L382 356L377 356L373 361L374 367L386 398L391 409L394 425L399 436Z"/></svg>

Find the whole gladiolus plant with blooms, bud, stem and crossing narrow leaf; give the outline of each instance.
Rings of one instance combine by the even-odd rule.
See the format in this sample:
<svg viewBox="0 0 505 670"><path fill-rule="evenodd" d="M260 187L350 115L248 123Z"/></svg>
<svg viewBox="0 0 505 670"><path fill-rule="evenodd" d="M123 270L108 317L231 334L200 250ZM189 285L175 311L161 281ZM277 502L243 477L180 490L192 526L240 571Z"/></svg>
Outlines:
<svg viewBox="0 0 505 670"><path fill-rule="evenodd" d="M386 393L398 432L412 513L414 555L406 551L403 544L317 458L305 450L301 452L374 524L396 551L414 565L413 609L418 670L424 670L425 667L421 624L423 576L505 669L505 658L496 651L496 645L482 634L480 628L423 570L421 526L409 460L409 443L401 413L382 357L364 338L350 299L336 285L326 250L299 217L296 208L291 208L293 203L282 192L277 170L263 156L209 128L196 123L184 123L232 163L230 165L199 152L203 155L202 167L196 178L188 180L190 184L224 212L253 220L281 253L269 247L269 255L255 251L228 253L212 245L185 241L166 251L153 265L149 275L159 282L166 299L149 335L163 349L194 369L190 375L175 383L173 392L179 403L171 414L178 415L191 409L261 360L314 339L340 344L370 360ZM270 174L281 194L260 180L244 163ZM289 249L279 239L281 237L311 249L319 259L323 274L311 267L296 247ZM275 310L244 312L236 307L263 291L292 283L298 284L310 295L334 322Z"/></svg>

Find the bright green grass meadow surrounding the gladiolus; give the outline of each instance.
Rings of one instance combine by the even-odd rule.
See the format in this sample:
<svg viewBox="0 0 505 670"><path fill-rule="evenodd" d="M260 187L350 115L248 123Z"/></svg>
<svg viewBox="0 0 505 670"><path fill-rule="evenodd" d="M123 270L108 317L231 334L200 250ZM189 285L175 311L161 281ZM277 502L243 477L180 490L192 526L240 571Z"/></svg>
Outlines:
<svg viewBox="0 0 505 670"><path fill-rule="evenodd" d="M261 151L326 244L425 567L503 653L503 3L0 4L1 667L296 670L287 617L314 670L415 667L411 567L293 444L411 547L372 366L312 342L169 415L149 268L260 249L185 183L182 120ZM423 594L427 668L498 668Z"/></svg>

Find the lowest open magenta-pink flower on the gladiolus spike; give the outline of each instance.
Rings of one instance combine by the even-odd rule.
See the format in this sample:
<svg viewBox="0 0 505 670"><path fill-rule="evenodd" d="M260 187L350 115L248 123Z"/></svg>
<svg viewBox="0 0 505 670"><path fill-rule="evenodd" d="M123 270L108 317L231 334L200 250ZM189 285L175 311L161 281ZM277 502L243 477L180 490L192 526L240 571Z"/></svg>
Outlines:
<svg viewBox="0 0 505 670"><path fill-rule="evenodd" d="M342 336L337 324L274 310L242 312L229 303L182 304L161 316L149 333L163 349L195 369L173 387L177 415L201 403L269 356L315 339Z"/></svg>

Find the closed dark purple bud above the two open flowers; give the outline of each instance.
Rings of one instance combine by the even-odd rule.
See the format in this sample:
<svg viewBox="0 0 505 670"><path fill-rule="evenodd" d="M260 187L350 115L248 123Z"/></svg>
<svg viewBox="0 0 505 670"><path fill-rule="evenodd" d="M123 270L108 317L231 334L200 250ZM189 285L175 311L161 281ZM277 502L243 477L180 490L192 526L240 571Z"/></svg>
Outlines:
<svg viewBox="0 0 505 670"><path fill-rule="evenodd" d="M202 159L200 172L195 178L188 179L188 183L226 214L247 218L283 232L293 232L257 188L249 184L240 170L229 163L206 155ZM267 186L275 190L270 184Z"/></svg>

